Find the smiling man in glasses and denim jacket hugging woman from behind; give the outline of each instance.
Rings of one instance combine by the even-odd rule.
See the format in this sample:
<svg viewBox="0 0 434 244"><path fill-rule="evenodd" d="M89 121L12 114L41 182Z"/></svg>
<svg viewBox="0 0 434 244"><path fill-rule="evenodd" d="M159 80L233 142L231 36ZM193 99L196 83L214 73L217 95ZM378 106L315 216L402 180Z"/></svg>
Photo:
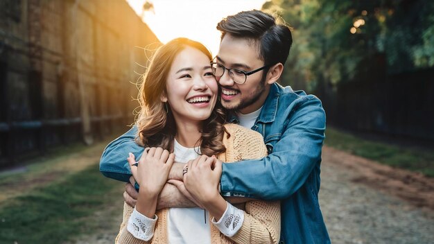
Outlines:
<svg viewBox="0 0 434 244"><path fill-rule="evenodd" d="M221 103L231 111L230 123L262 134L269 154L259 160L223 164L221 194L236 197L234 202L281 200L281 243L330 243L318 203L324 110L315 96L276 83L292 44L288 26L253 10L227 17L217 28L222 39L212 68L220 84ZM139 155L143 151L134 143L136 134L132 128L107 146L101 158L103 174L128 181L116 173L129 172L128 152ZM179 177L182 166L172 169ZM130 196L124 193L125 200L134 204L131 197L136 193L129 184L126 189ZM191 202L166 184L160 208L189 206Z"/></svg>

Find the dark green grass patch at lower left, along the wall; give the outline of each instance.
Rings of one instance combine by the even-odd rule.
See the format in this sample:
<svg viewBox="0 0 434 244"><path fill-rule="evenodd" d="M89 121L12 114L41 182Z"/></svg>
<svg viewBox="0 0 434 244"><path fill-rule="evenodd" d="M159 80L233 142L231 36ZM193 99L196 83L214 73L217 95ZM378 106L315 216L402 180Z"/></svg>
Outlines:
<svg viewBox="0 0 434 244"><path fill-rule="evenodd" d="M89 233L97 221L89 217L110 204L105 195L116 188L119 182L103 177L94 164L9 200L0 209L0 243L58 244Z"/></svg>

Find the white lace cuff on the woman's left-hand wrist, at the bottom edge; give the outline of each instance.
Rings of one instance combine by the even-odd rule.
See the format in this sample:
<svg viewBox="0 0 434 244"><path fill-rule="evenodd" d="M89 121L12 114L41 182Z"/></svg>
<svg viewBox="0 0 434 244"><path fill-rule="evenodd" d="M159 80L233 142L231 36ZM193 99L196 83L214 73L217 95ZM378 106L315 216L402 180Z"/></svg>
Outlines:
<svg viewBox="0 0 434 244"><path fill-rule="evenodd" d="M154 236L155 223L157 223L157 219L158 217L156 215L152 219L140 214L134 207L134 210L128 219L127 230L135 238L142 241L149 241L150 238L153 238Z"/></svg>

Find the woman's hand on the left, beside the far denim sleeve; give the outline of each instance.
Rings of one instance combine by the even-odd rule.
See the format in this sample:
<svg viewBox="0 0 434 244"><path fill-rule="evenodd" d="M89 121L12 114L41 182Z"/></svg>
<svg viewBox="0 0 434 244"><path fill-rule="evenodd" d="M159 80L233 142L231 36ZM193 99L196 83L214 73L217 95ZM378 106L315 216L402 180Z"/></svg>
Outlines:
<svg viewBox="0 0 434 244"><path fill-rule="evenodd" d="M146 148L137 166L134 155L130 153L128 163L131 173L140 186L139 193L158 195L166 184L175 155L163 148Z"/></svg>

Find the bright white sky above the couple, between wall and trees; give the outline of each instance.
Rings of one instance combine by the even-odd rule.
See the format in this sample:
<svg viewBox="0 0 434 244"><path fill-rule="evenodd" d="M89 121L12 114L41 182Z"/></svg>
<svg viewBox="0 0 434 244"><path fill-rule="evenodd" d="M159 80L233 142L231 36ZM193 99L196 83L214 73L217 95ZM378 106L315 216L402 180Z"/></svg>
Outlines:
<svg viewBox="0 0 434 244"><path fill-rule="evenodd" d="M243 10L261 9L266 0L148 0L153 11L142 13L146 0L126 0L144 22L166 43L176 37L202 42L216 55L220 44L217 23Z"/></svg>

